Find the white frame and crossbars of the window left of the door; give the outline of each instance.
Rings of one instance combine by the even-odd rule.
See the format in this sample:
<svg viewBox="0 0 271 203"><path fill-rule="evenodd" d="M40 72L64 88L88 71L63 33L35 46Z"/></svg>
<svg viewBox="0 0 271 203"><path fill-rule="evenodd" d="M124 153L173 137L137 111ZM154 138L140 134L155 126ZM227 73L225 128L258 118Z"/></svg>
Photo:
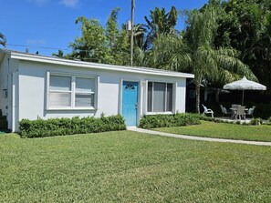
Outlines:
<svg viewBox="0 0 271 203"><path fill-rule="evenodd" d="M50 90L50 76L69 76L71 77L71 90ZM76 78L87 78L87 79L94 79L94 92L77 92L76 91ZM77 74L68 74L68 73L60 73L60 72L51 72L47 71L47 110L97 110L98 109L98 84L99 84L99 76L93 75L77 75ZM71 94L71 101L70 107L50 107L49 105L49 96L50 92L57 92L57 93L70 93ZM75 99L76 94L81 95L94 95L94 104L93 107L76 107L75 106Z"/></svg>

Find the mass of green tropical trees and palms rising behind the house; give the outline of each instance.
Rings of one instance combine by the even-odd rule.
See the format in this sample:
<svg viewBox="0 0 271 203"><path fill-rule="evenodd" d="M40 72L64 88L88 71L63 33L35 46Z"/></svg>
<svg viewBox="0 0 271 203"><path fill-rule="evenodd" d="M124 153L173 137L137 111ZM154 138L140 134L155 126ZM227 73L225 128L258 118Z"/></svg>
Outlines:
<svg viewBox="0 0 271 203"><path fill-rule="evenodd" d="M200 86L223 86L242 76L271 86L271 3L268 0L210 0L199 10L185 11L186 28L175 29L177 9L155 8L146 24L134 25L134 65L195 75L196 107ZM120 8L102 26L78 17L81 36L70 44L68 58L129 65L130 33L118 25Z"/></svg>

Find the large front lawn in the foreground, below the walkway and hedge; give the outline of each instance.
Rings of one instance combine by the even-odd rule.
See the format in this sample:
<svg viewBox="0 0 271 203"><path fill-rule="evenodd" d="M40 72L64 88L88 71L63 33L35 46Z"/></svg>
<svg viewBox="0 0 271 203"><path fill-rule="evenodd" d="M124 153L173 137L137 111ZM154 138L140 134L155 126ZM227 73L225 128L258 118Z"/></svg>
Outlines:
<svg viewBox="0 0 271 203"><path fill-rule="evenodd" d="M270 202L271 147L130 131L0 135L0 202Z"/></svg>

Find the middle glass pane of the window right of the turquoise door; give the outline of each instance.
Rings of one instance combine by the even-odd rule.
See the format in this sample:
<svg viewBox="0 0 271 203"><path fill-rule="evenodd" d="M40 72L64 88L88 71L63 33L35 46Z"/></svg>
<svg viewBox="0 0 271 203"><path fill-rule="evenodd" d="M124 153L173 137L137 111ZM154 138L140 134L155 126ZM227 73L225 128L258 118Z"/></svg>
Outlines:
<svg viewBox="0 0 271 203"><path fill-rule="evenodd" d="M153 111L164 112L165 107L165 83L154 83Z"/></svg>

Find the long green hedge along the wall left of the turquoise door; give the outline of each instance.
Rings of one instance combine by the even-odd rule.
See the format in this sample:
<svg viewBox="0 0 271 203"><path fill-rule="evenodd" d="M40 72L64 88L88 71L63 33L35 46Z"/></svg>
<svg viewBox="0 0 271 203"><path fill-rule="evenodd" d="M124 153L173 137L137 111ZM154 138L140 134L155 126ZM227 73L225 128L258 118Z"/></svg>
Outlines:
<svg viewBox="0 0 271 203"><path fill-rule="evenodd" d="M120 115L100 118L22 119L19 127L22 137L53 137L126 129L124 119Z"/></svg>

